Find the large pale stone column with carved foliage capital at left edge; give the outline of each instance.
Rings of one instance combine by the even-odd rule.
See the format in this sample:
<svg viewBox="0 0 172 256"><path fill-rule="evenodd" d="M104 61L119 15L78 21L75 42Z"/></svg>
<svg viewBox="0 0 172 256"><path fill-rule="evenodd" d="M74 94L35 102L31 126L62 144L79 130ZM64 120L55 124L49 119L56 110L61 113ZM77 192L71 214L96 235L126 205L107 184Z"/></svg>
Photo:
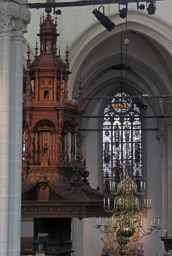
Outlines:
<svg viewBox="0 0 172 256"><path fill-rule="evenodd" d="M0 1L0 255L20 255L23 33L29 10Z"/></svg>

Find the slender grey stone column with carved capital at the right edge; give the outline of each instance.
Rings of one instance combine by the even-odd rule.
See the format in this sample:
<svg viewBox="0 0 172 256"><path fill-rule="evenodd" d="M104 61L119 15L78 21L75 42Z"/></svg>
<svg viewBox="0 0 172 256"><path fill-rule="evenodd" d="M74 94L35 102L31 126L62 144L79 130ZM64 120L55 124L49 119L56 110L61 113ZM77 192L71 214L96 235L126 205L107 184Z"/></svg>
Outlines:
<svg viewBox="0 0 172 256"><path fill-rule="evenodd" d="M168 215L169 215L169 234L172 236L172 118L164 119L168 126ZM166 182L167 184L167 182Z"/></svg>

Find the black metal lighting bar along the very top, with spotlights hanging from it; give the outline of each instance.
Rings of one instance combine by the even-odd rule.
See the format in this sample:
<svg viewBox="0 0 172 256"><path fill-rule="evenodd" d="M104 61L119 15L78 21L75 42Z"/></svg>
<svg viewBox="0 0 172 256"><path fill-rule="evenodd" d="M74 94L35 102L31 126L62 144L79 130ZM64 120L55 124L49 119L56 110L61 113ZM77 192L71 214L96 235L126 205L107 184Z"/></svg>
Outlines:
<svg viewBox="0 0 172 256"><path fill-rule="evenodd" d="M165 1L165 0L155 0L155 1ZM128 3L137 3L137 2L148 2L151 0L128 0ZM89 5L101 5L101 4L125 4L125 0L85 0L85 1L72 1L72 2L64 2L64 3L28 3L26 6L28 9L39 9L39 8L59 8L59 7L76 7L76 6L89 6Z"/></svg>

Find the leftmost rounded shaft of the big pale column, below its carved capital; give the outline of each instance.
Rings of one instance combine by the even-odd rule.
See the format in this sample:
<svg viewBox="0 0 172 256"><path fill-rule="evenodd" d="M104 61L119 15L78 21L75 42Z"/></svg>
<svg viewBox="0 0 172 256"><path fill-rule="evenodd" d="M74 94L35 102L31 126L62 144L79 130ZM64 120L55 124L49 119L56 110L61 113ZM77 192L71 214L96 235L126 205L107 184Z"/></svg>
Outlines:
<svg viewBox="0 0 172 256"><path fill-rule="evenodd" d="M9 176L10 176L10 74L11 74L11 37L12 33L1 34L1 169L0 169L0 254L8 255L9 233Z"/></svg>

